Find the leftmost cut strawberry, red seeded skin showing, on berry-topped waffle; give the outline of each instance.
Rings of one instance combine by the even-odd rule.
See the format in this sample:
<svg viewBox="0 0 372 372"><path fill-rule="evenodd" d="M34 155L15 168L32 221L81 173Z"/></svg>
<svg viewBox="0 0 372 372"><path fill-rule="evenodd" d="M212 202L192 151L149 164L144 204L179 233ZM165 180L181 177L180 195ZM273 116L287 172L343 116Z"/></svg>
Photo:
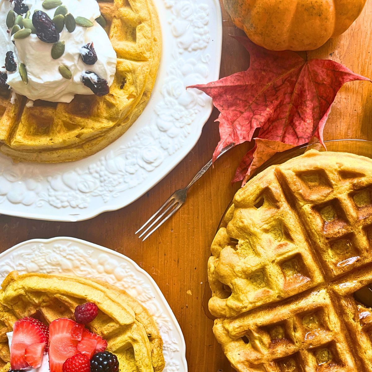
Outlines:
<svg viewBox="0 0 372 372"><path fill-rule="evenodd" d="M26 347L33 344L46 344L47 342L48 332L45 324L30 317L16 321L10 348L10 366L12 369L28 369L30 366L25 359Z"/></svg>

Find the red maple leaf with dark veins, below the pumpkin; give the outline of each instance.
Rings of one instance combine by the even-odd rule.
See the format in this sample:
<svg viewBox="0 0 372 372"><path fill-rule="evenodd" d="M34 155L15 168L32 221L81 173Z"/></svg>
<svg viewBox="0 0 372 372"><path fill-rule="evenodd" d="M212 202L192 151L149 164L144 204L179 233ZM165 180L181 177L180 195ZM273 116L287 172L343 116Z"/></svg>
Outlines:
<svg viewBox="0 0 372 372"><path fill-rule="evenodd" d="M246 37L234 36L250 54L250 67L209 84L188 88L212 97L220 111L221 141L213 154L253 139L256 145L241 161L234 181L246 180L276 152L303 145L316 137L323 144L323 129L331 105L343 84L366 80L331 60L307 60L295 52L273 52Z"/></svg>

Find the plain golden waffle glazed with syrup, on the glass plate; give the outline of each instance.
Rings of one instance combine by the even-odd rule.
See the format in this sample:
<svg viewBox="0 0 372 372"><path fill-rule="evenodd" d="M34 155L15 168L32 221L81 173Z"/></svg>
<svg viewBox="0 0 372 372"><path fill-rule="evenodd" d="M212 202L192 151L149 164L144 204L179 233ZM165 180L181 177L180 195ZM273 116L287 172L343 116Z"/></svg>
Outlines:
<svg viewBox="0 0 372 372"><path fill-rule="evenodd" d="M241 372L372 371L372 160L308 151L235 195L208 263L214 334ZM354 296L355 295L355 296ZM367 296L368 297L368 296Z"/></svg>

